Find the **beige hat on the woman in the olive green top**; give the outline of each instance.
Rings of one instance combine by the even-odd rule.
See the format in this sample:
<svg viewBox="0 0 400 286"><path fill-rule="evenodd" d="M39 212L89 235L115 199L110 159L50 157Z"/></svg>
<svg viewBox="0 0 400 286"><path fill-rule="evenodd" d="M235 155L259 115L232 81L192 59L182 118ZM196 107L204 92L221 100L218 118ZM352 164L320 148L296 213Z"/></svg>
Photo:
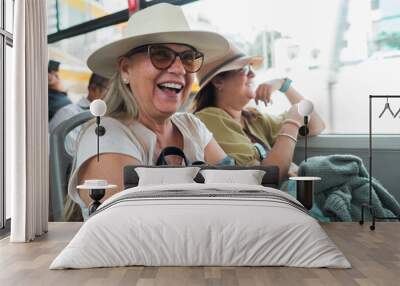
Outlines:
<svg viewBox="0 0 400 286"><path fill-rule="evenodd" d="M250 64L254 69L258 69L263 62L263 57L246 56L238 48L231 45L229 52L214 61L208 62L197 72L200 90L219 73L236 70Z"/></svg>

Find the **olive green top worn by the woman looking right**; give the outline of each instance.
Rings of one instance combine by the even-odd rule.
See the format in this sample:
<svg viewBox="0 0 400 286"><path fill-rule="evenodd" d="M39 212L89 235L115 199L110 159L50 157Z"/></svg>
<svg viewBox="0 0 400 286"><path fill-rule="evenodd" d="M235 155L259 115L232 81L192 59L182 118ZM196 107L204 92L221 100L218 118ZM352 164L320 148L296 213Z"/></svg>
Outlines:
<svg viewBox="0 0 400 286"><path fill-rule="evenodd" d="M248 112L245 111L244 115L246 113ZM236 165L251 166L261 160L254 143L264 145L268 152L287 118L286 112L279 116L262 114L256 110L252 113L254 116L242 116L244 128L240 122L218 107L204 108L195 115L213 133L225 153L235 159Z"/></svg>

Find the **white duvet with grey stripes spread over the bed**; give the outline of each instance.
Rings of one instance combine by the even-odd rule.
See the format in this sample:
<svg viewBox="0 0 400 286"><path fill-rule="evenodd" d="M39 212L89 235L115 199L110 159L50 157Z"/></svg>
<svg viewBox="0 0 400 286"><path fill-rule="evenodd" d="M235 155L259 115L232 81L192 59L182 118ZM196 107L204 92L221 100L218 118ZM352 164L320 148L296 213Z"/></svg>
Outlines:
<svg viewBox="0 0 400 286"><path fill-rule="evenodd" d="M172 197L145 197L174 190ZM232 191L241 195L215 195ZM263 193L254 197L252 191ZM112 196L50 269L127 265L351 267L291 196L262 186L195 183L135 187Z"/></svg>

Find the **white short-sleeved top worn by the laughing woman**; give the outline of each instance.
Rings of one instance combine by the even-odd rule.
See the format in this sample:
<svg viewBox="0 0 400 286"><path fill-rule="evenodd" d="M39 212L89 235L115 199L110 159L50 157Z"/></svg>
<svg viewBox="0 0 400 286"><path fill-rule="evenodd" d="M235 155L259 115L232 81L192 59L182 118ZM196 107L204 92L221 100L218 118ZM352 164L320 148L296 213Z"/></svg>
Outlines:
<svg viewBox="0 0 400 286"><path fill-rule="evenodd" d="M204 149L213 138L212 133L203 122L191 113L175 113L171 116L172 123L183 136L183 152L190 161L204 161ZM155 165L157 137L156 134L135 121L131 125L124 125L120 121L104 117L101 125L106 133L100 137L101 153L119 153L128 155L142 165ZM97 156L96 124L91 123L79 135L77 153L71 170L68 184L68 194L82 209L85 204L80 199L76 186L78 185L78 171L90 158ZM101 179L101 178L99 178Z"/></svg>

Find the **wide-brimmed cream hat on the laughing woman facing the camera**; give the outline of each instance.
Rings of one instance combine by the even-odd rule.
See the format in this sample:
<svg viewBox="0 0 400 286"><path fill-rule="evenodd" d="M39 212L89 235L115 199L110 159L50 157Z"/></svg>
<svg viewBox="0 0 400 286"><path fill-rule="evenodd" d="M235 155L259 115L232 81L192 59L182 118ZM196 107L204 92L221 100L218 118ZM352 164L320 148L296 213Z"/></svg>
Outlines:
<svg viewBox="0 0 400 286"><path fill-rule="evenodd" d="M229 50L229 43L221 35L191 30L180 6L161 3L134 13L123 37L96 50L87 64L94 73L110 78L117 71L120 56L133 48L157 43L190 45L204 54L204 64Z"/></svg>

